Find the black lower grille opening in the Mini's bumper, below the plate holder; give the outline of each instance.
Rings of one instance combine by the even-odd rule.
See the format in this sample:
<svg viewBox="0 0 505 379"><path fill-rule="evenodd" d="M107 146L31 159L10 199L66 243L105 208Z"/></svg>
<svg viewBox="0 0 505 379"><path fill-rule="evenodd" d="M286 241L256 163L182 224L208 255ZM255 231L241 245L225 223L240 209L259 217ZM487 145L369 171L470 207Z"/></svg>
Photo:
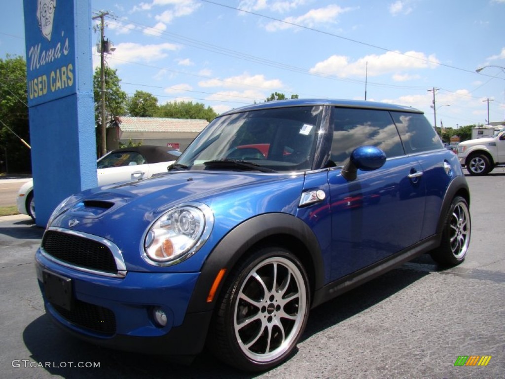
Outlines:
<svg viewBox="0 0 505 379"><path fill-rule="evenodd" d="M108 308L85 303L77 299L74 299L71 311L55 304L51 305L63 318L76 326L106 336L112 336L116 333L116 316Z"/></svg>

